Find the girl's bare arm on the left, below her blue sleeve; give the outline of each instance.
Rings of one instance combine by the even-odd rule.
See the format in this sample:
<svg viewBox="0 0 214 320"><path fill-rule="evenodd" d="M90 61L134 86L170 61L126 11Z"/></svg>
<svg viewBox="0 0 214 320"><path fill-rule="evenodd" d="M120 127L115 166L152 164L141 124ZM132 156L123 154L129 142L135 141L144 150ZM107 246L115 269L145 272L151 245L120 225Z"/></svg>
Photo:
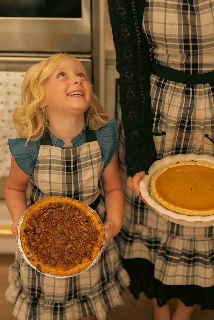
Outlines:
<svg viewBox="0 0 214 320"><path fill-rule="evenodd" d="M13 219L12 233L18 234L17 225L21 215L27 210L26 190L31 176L23 172L16 164L15 159L11 159L11 168L5 187L5 201Z"/></svg>

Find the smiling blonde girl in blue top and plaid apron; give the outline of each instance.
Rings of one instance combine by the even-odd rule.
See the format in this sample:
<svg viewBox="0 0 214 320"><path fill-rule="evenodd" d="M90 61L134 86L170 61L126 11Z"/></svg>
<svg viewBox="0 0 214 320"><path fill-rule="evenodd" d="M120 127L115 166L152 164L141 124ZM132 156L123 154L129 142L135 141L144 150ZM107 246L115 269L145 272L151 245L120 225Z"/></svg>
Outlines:
<svg viewBox="0 0 214 320"><path fill-rule="evenodd" d="M124 215L116 120L102 112L80 61L66 53L28 70L22 100L13 114L20 138L8 141L12 161L5 200L13 234L27 209L30 181L31 203L69 196L96 210L105 223L106 243L89 270L69 278L35 271L17 250L5 297L15 303L13 315L20 320L105 319L111 308L123 304L121 293L129 285L113 240Z"/></svg>

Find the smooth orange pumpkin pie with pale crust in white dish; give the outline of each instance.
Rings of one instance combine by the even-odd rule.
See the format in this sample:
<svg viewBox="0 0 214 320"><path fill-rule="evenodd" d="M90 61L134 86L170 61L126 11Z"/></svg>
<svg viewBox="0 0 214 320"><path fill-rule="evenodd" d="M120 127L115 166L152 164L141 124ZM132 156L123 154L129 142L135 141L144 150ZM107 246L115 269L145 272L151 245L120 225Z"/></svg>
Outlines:
<svg viewBox="0 0 214 320"><path fill-rule="evenodd" d="M171 211L190 216L214 214L214 164L184 161L167 165L152 177L151 192Z"/></svg>

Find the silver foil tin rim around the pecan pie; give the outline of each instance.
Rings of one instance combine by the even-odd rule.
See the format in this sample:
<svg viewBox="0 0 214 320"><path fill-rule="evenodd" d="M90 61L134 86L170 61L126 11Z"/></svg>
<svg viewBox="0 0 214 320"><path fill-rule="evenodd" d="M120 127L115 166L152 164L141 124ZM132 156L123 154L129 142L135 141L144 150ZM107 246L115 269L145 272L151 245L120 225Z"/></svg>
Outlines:
<svg viewBox="0 0 214 320"><path fill-rule="evenodd" d="M87 204L85 204L87 205ZM87 207L90 209L91 212L94 212L97 216L98 214L93 210L91 209L88 205ZM27 210L26 210L27 211ZM23 222L23 219L24 219L24 215L26 213L26 211L22 214L20 220L19 220L19 223L18 223L18 226L17 226L17 229L18 229L18 235L16 236L16 241L17 241L17 245L18 245L18 248L19 248L19 251L21 252L21 255L22 257L24 258L24 260L30 265L31 268L33 268L34 270L36 270L37 272L39 273L42 273L46 276L49 276L49 277L53 277L53 278L70 278L70 277L74 277L74 276L77 276L85 271L87 271L88 269L90 269L96 262L97 260L99 259L102 251L103 251L103 248L104 248L104 245L105 245L105 229L104 229L104 226L102 224L102 228L103 228L103 232L104 232L104 240L103 240L103 246L102 248L100 249L99 253L97 254L96 258L91 262L91 264L85 269L85 270L82 270L81 272L79 273L75 273L73 275L70 275L70 276L57 276L57 275L49 275L48 273L44 273L42 272L41 270L37 269L31 262L30 260L28 259L28 257L26 256L25 252L24 252L24 249L22 247L22 244L21 244L21 235L20 235L20 232L21 232L21 224ZM98 216L99 217L99 216ZM100 218L99 218L100 219ZM100 222L102 223L102 221L100 220Z"/></svg>

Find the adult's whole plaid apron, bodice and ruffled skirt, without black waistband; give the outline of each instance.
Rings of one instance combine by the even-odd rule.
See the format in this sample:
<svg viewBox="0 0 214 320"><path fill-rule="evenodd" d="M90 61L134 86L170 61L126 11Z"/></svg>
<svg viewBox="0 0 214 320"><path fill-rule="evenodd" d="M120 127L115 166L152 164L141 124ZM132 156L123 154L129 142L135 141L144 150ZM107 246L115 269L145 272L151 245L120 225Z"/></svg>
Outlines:
<svg viewBox="0 0 214 320"><path fill-rule="evenodd" d="M143 31L151 57L159 64L189 74L213 71L213 13L213 0L147 0ZM189 85L151 74L150 83L158 159L180 153L214 156L214 79L208 84ZM150 261L154 277L171 287L213 286L214 228L175 224L135 198L126 186L124 131L122 121L119 122L119 164L126 196L119 235L121 256ZM200 303L202 297L197 299L194 303Z"/></svg>

